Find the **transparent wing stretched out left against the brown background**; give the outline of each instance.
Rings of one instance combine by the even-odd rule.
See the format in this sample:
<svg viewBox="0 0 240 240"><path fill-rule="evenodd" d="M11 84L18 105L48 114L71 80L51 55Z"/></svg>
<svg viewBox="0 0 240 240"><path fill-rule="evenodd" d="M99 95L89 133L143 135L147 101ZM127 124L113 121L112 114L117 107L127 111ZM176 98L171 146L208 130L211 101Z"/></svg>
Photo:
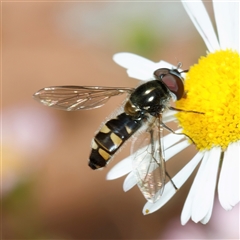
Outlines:
<svg viewBox="0 0 240 240"><path fill-rule="evenodd" d="M58 86L47 87L36 92L33 97L42 104L65 111L98 108L109 98L123 93L131 93L133 88Z"/></svg>

